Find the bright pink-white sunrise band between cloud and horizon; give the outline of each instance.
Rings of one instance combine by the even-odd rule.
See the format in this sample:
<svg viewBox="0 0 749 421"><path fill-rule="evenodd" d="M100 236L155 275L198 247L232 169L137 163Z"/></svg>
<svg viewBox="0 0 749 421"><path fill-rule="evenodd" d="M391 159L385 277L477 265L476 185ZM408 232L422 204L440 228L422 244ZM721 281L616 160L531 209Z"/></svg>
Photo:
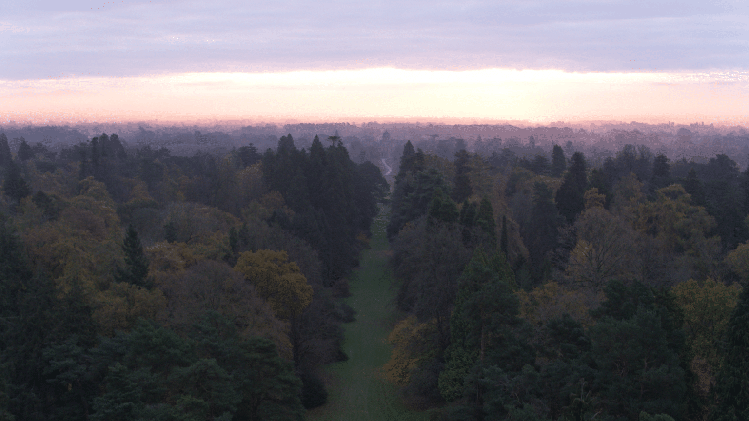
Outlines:
<svg viewBox="0 0 749 421"><path fill-rule="evenodd" d="M380 67L6 80L0 123L258 116L742 123L748 74Z"/></svg>

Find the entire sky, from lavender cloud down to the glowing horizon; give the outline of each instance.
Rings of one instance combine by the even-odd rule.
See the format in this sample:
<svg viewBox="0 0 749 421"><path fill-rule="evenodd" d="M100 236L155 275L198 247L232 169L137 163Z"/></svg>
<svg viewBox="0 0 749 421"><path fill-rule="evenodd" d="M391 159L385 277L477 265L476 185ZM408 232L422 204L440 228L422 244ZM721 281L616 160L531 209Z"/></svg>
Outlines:
<svg viewBox="0 0 749 421"><path fill-rule="evenodd" d="M747 0L2 0L0 12L0 123L749 121Z"/></svg>

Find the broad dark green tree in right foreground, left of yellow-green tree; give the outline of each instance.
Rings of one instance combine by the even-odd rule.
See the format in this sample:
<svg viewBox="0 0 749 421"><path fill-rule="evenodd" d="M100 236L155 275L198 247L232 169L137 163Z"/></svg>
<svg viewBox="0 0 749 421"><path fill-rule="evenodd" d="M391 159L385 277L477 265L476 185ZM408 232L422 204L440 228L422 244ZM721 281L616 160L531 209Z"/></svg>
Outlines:
<svg viewBox="0 0 749 421"><path fill-rule="evenodd" d="M607 300L592 312L600 319L591 328L590 358L592 390L607 417L636 420L646 411L681 419L688 384L679 358L685 333L675 314L640 282L613 280L604 292Z"/></svg>

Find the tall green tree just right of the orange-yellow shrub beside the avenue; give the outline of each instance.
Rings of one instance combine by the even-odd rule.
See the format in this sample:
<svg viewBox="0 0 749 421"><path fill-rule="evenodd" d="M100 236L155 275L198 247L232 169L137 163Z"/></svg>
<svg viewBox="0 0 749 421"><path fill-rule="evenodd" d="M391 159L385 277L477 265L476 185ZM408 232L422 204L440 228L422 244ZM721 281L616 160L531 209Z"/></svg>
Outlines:
<svg viewBox="0 0 749 421"><path fill-rule="evenodd" d="M462 376L464 405L451 411L451 419L500 420L518 411L528 412L525 410L530 407L524 408L524 401L532 392L527 386L539 383L533 367L536 351L530 343L530 326L518 317L518 296L508 276L509 266L501 254L497 258L505 268L502 274L491 262L481 264L479 256L461 278L454 312L456 318L462 318L455 320L458 346L446 353L450 360L440 378L440 392L449 392L460 387L458 379L467 372ZM473 364L466 370L461 361ZM452 392L452 396L455 394ZM527 415L535 415L531 412Z"/></svg>

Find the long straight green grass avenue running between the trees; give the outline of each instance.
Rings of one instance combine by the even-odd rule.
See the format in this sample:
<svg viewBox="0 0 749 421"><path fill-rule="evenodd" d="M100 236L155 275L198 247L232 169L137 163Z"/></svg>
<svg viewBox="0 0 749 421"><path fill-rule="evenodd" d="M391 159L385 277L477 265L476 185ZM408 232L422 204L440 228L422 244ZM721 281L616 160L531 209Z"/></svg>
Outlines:
<svg viewBox="0 0 749 421"><path fill-rule="evenodd" d="M378 216L382 218L383 215ZM387 264L387 221L372 224L372 249L361 255L361 267L351 275L352 297L346 299L357 310L357 321L344 325L343 350L349 360L324 367L328 402L308 411L310 421L425 421L422 412L410 411L398 398L397 387L380 375L389 360L387 336L395 321L392 315L392 273Z"/></svg>

